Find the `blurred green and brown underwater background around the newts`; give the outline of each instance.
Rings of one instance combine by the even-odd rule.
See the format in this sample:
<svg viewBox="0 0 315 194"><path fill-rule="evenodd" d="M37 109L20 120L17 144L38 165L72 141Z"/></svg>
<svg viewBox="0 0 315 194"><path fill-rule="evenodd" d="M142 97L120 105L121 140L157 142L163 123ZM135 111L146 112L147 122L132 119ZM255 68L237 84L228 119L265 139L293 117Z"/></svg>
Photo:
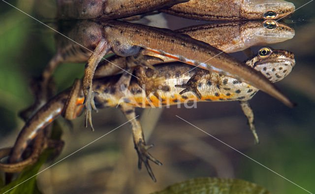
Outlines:
<svg viewBox="0 0 315 194"><path fill-rule="evenodd" d="M296 8L307 0L291 0ZM54 0L10 0L9 3L54 27ZM288 108L259 92L250 101L260 144L254 145L238 102L198 103L196 109L138 110L150 153L163 163L151 164L158 180L145 169L138 171L130 126L123 126L39 175L40 190L53 193L150 193L191 178L211 176L244 179L275 194L303 194L301 188L240 155L214 138L184 123L175 115L240 150L287 179L315 193L315 2L298 9L285 22L295 37L271 45L293 52L296 65L277 85L298 106ZM166 24L200 24L168 15ZM0 2L0 148L12 146L24 122L18 112L32 104L29 83L39 76L54 55L54 32L24 13ZM150 19L150 18L149 18ZM160 24L153 24L160 25ZM165 27L165 26L164 26ZM174 27L174 26L172 26ZM259 47L252 48L254 52ZM242 53L236 54L244 60ZM84 64L60 65L54 73L58 90L83 75ZM162 111L162 112L161 112ZM161 114L160 114L161 113ZM65 147L71 154L106 132L126 122L116 108L93 114L95 132L85 129L83 117L70 130L63 119ZM153 130L154 129L154 130ZM56 161L57 161L56 160ZM47 164L49 165L49 163Z"/></svg>

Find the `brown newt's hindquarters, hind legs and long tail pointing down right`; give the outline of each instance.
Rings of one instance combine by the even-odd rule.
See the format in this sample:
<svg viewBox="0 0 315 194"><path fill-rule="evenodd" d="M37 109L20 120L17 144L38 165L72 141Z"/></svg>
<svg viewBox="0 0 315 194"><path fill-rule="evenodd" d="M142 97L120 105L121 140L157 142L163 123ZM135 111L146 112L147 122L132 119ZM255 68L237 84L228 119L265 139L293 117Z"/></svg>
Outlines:
<svg viewBox="0 0 315 194"><path fill-rule="evenodd" d="M77 28L70 29L66 35L69 39L61 41L63 48L49 62L43 72L43 83L54 68L60 63L88 61L85 66L83 78L83 92L85 96L85 126L92 125L91 111L97 111L93 97L92 80L95 69L102 57L114 52L119 56L132 56L139 52L140 48L152 51L159 55L170 57L189 65L195 65L204 69L215 71L226 76L244 81L263 92L282 101L287 106L294 106L278 88L275 87L261 72L245 65L230 55L203 41L196 40L188 35L173 32L167 29L148 27L140 24L132 24L122 21L109 20L106 22L79 21ZM71 44L67 44L67 42ZM81 46L84 45L83 49ZM91 52L92 50L93 53ZM44 84L45 85L45 84Z"/></svg>

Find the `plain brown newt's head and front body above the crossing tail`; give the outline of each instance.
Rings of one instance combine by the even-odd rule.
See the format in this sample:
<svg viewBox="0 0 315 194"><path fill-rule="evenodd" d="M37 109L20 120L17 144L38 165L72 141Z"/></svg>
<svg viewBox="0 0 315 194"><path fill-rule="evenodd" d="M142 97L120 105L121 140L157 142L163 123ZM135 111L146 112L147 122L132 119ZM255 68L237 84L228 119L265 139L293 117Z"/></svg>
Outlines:
<svg viewBox="0 0 315 194"><path fill-rule="evenodd" d="M226 53L282 42L293 38L295 34L291 27L273 20L211 23L187 27L176 32L207 42Z"/></svg>

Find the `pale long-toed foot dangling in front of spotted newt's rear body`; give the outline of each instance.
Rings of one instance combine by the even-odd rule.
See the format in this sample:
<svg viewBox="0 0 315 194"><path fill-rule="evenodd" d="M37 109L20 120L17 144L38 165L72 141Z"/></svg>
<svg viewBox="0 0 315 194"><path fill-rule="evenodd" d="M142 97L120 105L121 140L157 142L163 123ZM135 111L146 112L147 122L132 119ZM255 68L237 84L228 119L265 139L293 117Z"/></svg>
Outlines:
<svg viewBox="0 0 315 194"><path fill-rule="evenodd" d="M85 127L88 127L88 123L91 126L92 131L94 131L93 124L92 124L92 109L95 110L95 112L98 112L94 97L98 95L97 92L94 92L92 90L88 91L87 97L84 99L84 105L85 105Z"/></svg>

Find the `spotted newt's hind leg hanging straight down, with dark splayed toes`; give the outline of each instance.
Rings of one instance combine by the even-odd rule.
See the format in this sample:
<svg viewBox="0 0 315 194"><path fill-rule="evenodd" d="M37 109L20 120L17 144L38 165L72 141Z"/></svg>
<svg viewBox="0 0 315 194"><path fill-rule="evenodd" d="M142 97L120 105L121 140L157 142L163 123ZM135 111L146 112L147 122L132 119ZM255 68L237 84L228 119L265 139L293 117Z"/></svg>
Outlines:
<svg viewBox="0 0 315 194"><path fill-rule="evenodd" d="M125 114L126 118L130 121L131 127L132 127L132 136L133 136L133 143L134 148L137 151L138 154L138 168L139 170L142 167L142 162L144 163L145 167L147 168L147 171L152 178L154 182L157 181L156 177L153 174L153 171L151 169L151 166L149 164L149 160L158 164L162 165L161 162L159 162L157 159L155 159L148 150L152 148L154 145L146 145L143 135L143 130L141 128L140 122L135 118L135 108L128 106L126 103L121 103L120 108Z"/></svg>

